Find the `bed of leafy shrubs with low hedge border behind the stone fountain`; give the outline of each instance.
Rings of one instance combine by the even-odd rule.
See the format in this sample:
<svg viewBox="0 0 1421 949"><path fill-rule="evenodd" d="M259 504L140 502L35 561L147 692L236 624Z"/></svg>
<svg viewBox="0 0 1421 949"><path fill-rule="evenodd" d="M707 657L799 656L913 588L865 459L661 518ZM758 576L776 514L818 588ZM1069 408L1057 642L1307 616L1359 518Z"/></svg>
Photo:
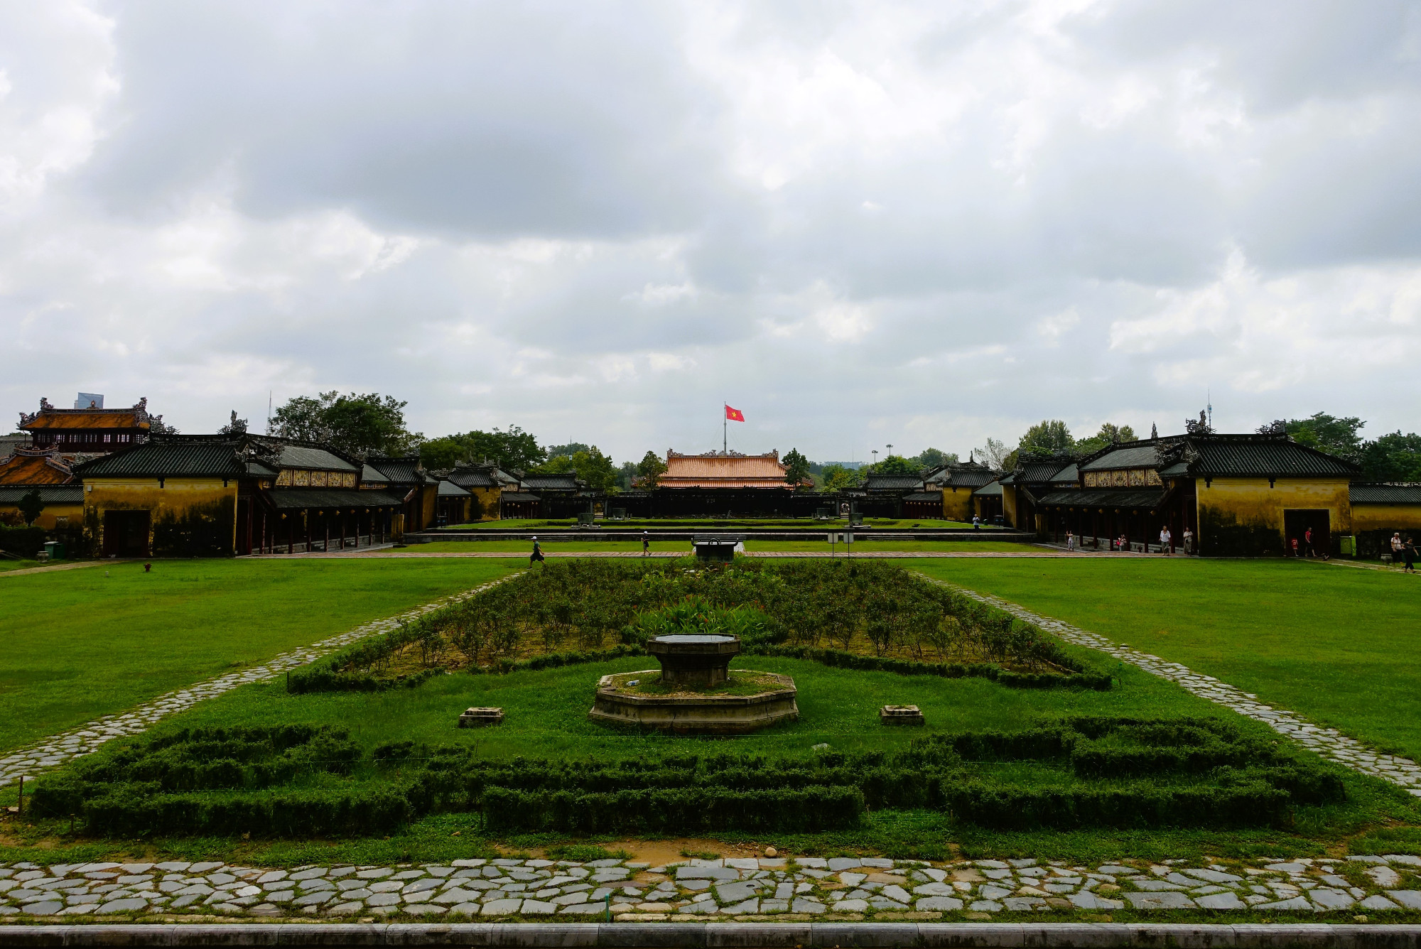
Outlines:
<svg viewBox="0 0 1421 949"><path fill-rule="evenodd" d="M539 656L566 663L676 632L735 635L747 654L844 668L1110 688L1108 676L1086 672L1053 638L1002 609L892 564L814 560L550 563L298 669L290 688L401 688L441 669L506 671Z"/></svg>

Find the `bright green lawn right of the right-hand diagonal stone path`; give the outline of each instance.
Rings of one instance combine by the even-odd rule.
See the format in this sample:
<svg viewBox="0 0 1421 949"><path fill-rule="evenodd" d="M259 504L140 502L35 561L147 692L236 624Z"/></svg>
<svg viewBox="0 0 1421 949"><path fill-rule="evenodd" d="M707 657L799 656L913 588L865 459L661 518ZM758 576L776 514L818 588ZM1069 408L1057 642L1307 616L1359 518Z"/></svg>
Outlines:
<svg viewBox="0 0 1421 949"><path fill-rule="evenodd" d="M908 564L905 564L908 565ZM934 561L925 575L1182 662L1421 759L1421 582L1289 560Z"/></svg>

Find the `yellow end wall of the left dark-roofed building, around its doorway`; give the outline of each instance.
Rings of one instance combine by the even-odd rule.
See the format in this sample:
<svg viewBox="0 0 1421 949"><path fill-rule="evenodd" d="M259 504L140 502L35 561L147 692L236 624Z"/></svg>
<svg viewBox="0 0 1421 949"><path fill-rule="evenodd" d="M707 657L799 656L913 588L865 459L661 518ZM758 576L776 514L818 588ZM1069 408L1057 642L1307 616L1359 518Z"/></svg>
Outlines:
<svg viewBox="0 0 1421 949"><path fill-rule="evenodd" d="M237 482L220 477L85 479L84 533L104 550L104 511L149 511L155 557L233 554L237 543Z"/></svg>

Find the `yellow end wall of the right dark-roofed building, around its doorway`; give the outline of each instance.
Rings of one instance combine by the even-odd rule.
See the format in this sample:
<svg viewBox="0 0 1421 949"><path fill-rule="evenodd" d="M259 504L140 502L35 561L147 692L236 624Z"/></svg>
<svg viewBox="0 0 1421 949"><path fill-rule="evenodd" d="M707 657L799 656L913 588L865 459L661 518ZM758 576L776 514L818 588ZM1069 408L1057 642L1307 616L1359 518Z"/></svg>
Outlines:
<svg viewBox="0 0 1421 949"><path fill-rule="evenodd" d="M1353 533L1346 480L1215 477L1195 482L1199 541L1205 554L1272 554L1283 551L1283 511L1327 510L1336 537Z"/></svg>

